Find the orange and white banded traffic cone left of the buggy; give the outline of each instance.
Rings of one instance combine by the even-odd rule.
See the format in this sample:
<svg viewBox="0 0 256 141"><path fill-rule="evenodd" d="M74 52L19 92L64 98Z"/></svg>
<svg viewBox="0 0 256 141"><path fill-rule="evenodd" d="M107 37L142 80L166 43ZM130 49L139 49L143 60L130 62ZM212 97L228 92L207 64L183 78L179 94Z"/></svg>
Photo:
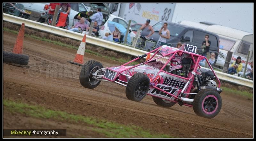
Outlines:
<svg viewBox="0 0 256 141"><path fill-rule="evenodd" d="M76 64L79 66L84 66L84 50L85 50L85 40L86 40L86 34L84 35L84 38L76 52L76 57L74 61L68 61L69 63Z"/></svg>

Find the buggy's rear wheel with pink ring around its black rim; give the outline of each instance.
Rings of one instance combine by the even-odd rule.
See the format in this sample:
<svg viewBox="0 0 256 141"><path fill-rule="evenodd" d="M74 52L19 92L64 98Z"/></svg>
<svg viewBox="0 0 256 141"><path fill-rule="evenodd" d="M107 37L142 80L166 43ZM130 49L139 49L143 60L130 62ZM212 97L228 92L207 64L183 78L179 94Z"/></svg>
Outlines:
<svg viewBox="0 0 256 141"><path fill-rule="evenodd" d="M216 90L203 89L199 91L193 101L194 112L205 118L213 118L219 114L222 106L220 94Z"/></svg>

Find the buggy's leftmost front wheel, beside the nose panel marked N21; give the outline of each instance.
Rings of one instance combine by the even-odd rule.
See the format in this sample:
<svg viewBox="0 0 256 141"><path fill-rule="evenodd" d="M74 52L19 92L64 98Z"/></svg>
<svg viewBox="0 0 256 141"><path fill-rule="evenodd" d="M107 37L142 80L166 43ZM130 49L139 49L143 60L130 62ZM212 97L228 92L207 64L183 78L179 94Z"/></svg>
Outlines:
<svg viewBox="0 0 256 141"><path fill-rule="evenodd" d="M103 66L100 62L90 60L86 62L80 72L79 80L82 86L89 89L96 88L99 84L99 80L93 78L93 73L101 69ZM101 72L100 72L101 73ZM98 73L99 74L99 73ZM100 74L99 74L100 75Z"/></svg>

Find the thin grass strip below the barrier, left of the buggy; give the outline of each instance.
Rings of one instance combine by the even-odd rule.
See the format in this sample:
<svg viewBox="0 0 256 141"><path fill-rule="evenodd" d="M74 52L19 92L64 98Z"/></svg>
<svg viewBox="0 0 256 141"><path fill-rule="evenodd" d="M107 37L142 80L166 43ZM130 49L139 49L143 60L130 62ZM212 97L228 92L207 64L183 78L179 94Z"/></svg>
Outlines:
<svg viewBox="0 0 256 141"><path fill-rule="evenodd" d="M3 28L3 30L6 31L6 32L13 33L13 34L18 34L19 33L18 31L14 31L14 30L11 30L11 29L8 29L8 28L5 28L5 27ZM27 34L25 34L24 36L25 37L31 37L31 38L36 39L36 40L40 40L40 41L56 44L56 45L59 45L59 46L71 48L71 49L78 49L78 47L75 47L75 46L72 46L72 45L69 45L69 44L66 44L66 43L61 43L59 41L52 41L50 39L38 37L38 36L35 36L35 35L27 35ZM103 57L105 59L114 60L114 61L117 61L117 62L120 62L120 63L127 63L127 62L131 61L131 60L122 59L122 58L117 59L115 57L104 56L104 55L101 55L98 52L91 51L91 50L88 50L88 49L85 49L85 52L87 52L89 54L96 55L96 56L101 56L101 57ZM138 62L132 62L129 65L137 65L137 64L138 64Z"/></svg>

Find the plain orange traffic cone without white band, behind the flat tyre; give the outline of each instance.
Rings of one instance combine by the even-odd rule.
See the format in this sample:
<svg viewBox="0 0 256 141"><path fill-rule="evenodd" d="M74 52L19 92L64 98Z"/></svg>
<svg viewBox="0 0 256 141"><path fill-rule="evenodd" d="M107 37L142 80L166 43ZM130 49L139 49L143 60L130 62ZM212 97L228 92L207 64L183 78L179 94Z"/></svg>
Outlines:
<svg viewBox="0 0 256 141"><path fill-rule="evenodd" d="M16 39L16 43L14 44L14 48L13 48L12 53L22 54L22 51L23 51L24 32L25 32L25 24L22 23L22 25L21 25L21 27L20 27L19 34L18 34L17 39Z"/></svg>

